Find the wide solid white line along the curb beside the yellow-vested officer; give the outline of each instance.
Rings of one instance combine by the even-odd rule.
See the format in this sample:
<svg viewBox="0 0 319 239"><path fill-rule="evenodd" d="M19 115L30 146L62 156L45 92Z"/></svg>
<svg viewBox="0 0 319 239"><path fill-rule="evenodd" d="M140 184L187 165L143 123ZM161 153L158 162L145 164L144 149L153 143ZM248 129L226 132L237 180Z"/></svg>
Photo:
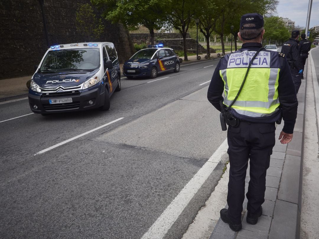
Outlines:
<svg viewBox="0 0 319 239"><path fill-rule="evenodd" d="M211 172L215 169L222 155L227 152L227 138L209 158L209 160L198 170L195 176L188 182L182 191L176 196L165 211L159 216L154 224L142 236L141 239L161 239L174 224L189 201L194 197L198 189L203 185Z"/></svg>

